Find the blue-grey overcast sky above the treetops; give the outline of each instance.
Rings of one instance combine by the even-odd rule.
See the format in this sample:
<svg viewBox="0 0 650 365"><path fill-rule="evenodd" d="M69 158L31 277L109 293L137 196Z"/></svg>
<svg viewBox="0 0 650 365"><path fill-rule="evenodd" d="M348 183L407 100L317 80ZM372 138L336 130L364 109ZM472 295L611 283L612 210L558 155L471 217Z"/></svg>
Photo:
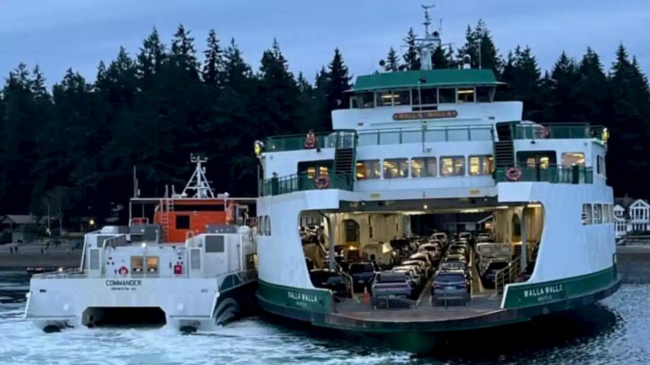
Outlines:
<svg viewBox="0 0 650 365"><path fill-rule="evenodd" d="M421 1L369 0L0 0L0 75L25 62L39 64L49 82L72 67L94 79L99 60L120 45L138 51L152 27L164 41L183 23L199 50L207 31L237 40L257 69L274 37L294 73L309 79L339 47L352 73L369 73L387 49L400 47L409 27L422 29ZM530 45L549 68L564 49L581 57L591 45L610 66L619 42L650 71L650 0L444 0L443 41L462 44L468 23L483 18L502 53Z"/></svg>

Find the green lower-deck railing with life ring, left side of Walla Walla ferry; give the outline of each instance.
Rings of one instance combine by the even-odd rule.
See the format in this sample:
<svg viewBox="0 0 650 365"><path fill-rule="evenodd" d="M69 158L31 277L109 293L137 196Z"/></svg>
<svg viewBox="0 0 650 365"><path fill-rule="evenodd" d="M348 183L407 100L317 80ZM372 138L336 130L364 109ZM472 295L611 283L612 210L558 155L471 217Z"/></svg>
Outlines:
<svg viewBox="0 0 650 365"><path fill-rule="evenodd" d="M328 185L320 187L319 183L322 181L308 173L297 173L283 177L271 177L270 179L261 182L260 194L262 196L268 196L327 188L352 191L352 186L354 186L354 176L352 174L331 173L327 178L329 179Z"/></svg>

